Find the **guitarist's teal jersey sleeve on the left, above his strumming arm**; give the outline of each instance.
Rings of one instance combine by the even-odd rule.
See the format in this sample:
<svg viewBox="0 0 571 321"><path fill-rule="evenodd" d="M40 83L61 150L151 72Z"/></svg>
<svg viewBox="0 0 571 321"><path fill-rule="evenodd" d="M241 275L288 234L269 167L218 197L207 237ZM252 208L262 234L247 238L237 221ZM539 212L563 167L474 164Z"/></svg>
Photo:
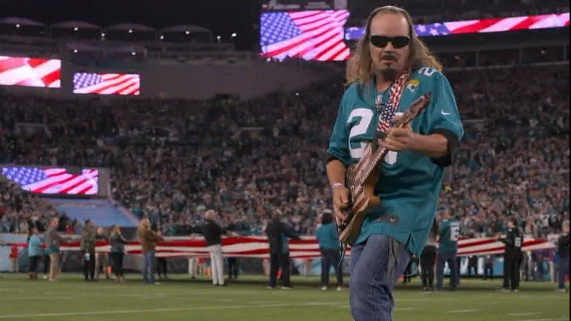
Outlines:
<svg viewBox="0 0 571 321"><path fill-rule="evenodd" d="M339 110L337 111L337 119L331 131L329 138L329 146L327 153L330 158L339 159L348 166L351 163L351 155L349 154L349 130L347 128L347 93L341 98Z"/></svg>

